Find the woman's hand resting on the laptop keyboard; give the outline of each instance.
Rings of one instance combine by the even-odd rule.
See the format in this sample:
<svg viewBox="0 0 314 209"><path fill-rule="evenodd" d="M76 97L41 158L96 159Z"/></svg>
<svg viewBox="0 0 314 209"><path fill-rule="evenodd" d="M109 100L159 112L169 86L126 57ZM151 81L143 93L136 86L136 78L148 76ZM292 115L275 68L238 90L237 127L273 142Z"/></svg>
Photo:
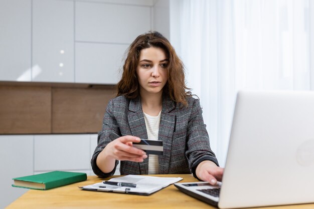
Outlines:
<svg viewBox="0 0 314 209"><path fill-rule="evenodd" d="M217 181L222 180L224 168L218 167L210 160L204 160L196 167L196 175L203 181L208 181L210 184L215 185Z"/></svg>

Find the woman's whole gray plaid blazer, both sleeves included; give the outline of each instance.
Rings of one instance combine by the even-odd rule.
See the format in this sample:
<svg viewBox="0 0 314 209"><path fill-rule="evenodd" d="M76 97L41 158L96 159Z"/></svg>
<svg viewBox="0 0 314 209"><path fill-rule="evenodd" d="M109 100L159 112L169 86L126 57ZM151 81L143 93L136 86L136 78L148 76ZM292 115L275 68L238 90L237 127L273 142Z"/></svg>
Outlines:
<svg viewBox="0 0 314 209"><path fill-rule="evenodd" d="M210 148L209 136L203 121L200 101L189 97L187 107L179 107L168 97L163 107L158 139L163 141L164 154L159 156L160 174L193 173L203 160L218 165ZM115 172L118 161L110 173L103 173L96 165L96 158L112 140L125 135L147 139L147 132L140 98L127 99L118 96L107 105L102 130L98 133L98 145L91 159L94 173L108 177ZM149 157L149 156L148 156ZM148 157L143 162L121 161L120 173L148 174Z"/></svg>

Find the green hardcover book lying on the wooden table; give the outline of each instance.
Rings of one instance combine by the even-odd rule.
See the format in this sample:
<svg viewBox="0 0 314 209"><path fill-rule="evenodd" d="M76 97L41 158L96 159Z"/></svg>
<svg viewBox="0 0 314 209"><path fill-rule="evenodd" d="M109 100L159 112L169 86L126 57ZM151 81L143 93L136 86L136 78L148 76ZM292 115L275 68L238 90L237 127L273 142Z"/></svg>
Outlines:
<svg viewBox="0 0 314 209"><path fill-rule="evenodd" d="M51 189L87 179L86 173L52 171L36 175L28 175L13 178L14 187L31 188L31 189Z"/></svg>

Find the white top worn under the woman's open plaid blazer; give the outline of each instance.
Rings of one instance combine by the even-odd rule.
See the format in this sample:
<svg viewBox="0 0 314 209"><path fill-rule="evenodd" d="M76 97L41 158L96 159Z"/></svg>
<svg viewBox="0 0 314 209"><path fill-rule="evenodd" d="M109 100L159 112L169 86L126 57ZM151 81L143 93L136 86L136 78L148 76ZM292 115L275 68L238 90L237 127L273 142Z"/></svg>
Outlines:
<svg viewBox="0 0 314 209"><path fill-rule="evenodd" d="M158 140L159 124L161 121L161 112L158 116L150 116L144 113L147 136L149 140ZM159 174L158 155L149 154L148 156L148 174Z"/></svg>

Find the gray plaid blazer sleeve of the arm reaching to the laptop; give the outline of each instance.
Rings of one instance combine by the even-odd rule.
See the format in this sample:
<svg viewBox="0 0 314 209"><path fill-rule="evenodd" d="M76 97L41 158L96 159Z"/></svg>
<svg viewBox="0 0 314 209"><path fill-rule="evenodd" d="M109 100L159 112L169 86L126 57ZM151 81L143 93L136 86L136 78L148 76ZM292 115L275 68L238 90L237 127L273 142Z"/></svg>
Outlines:
<svg viewBox="0 0 314 209"><path fill-rule="evenodd" d="M197 178L195 170L198 164L204 160L218 164L215 153L209 143L209 136L202 116L200 100L195 99L192 105L192 114L188 122L186 156L191 172Z"/></svg>

